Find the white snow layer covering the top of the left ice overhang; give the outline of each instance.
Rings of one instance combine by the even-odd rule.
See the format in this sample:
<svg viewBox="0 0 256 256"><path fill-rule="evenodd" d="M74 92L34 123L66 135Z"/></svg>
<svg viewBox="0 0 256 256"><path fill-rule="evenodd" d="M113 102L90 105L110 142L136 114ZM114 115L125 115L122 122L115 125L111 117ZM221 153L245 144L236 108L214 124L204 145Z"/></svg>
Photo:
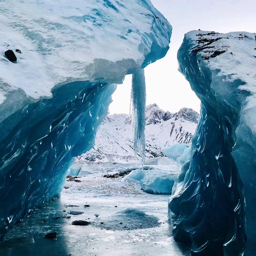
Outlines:
<svg viewBox="0 0 256 256"><path fill-rule="evenodd" d="M120 84L129 69L140 67L153 41L160 47L170 42L171 26L146 0L8 0L0 10L1 83L33 100L52 97L55 85L68 82ZM166 38L152 31L159 28ZM8 49L21 51L16 63L4 56ZM0 93L1 104L5 89Z"/></svg>

